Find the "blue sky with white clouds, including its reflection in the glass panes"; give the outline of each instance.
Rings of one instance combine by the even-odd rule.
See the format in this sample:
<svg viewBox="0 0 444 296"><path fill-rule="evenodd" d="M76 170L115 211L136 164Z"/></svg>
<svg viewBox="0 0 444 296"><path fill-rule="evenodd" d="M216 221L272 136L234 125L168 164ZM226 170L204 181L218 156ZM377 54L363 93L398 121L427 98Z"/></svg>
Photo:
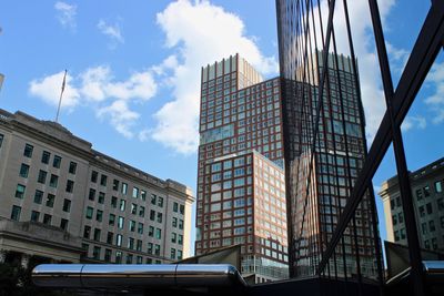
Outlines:
<svg viewBox="0 0 444 296"><path fill-rule="evenodd" d="M367 3L349 2L371 143L385 102ZM274 0L2 1L0 73L6 80L0 108L54 120L68 70L59 118L63 126L95 150L186 184L195 193L200 69L239 52L265 78L276 76L274 4ZM384 0L380 8L396 86L430 1ZM341 12L335 16L337 34L344 31L341 17ZM341 38L337 42L345 52ZM442 55L403 124L411 171L443 156ZM395 174L389 151L373 180L376 192ZM381 201L376 201L384 238Z"/></svg>

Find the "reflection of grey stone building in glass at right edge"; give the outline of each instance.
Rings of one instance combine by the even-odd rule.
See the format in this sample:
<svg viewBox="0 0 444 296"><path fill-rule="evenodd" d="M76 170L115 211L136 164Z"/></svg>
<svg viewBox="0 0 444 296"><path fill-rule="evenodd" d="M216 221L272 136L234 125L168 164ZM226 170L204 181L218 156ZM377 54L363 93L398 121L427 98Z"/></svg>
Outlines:
<svg viewBox="0 0 444 296"><path fill-rule="evenodd" d="M444 252L444 159L410 174L420 245ZM381 185L387 241L407 245L397 176Z"/></svg>

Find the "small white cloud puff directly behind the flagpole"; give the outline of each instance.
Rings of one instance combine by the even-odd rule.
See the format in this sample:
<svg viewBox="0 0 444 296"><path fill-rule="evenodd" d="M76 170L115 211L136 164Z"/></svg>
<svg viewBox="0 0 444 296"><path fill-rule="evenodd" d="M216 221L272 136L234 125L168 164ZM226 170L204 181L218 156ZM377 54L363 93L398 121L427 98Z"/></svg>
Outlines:
<svg viewBox="0 0 444 296"><path fill-rule="evenodd" d="M63 82L64 71L44 76L42 79L32 80L29 84L29 93L41 98L50 105L58 106L60 93ZM72 109L80 100L79 90L72 85L72 76L67 74L67 83L63 91L62 108Z"/></svg>

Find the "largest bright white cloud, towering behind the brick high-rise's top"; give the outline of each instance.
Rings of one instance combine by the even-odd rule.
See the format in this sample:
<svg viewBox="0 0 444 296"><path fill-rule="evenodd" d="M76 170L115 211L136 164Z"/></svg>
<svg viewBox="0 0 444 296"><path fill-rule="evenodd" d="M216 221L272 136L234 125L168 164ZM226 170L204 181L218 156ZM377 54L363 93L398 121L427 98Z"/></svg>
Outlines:
<svg viewBox="0 0 444 296"><path fill-rule="evenodd" d="M168 58L173 68L167 78L173 90L171 101L154 115L158 125L152 137L180 153L193 153L199 135L201 67L240 53L261 73L278 74L276 58L261 53L238 16L209 1L170 3L157 21L167 34L167 48L174 50L174 58Z"/></svg>

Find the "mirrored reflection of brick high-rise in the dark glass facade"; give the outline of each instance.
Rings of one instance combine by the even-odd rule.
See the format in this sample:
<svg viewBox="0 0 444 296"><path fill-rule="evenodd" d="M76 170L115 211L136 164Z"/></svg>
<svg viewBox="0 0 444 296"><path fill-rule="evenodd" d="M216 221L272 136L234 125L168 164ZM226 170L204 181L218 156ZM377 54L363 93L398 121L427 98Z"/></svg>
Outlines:
<svg viewBox="0 0 444 296"><path fill-rule="evenodd" d="M317 274L322 253L363 167L365 120L355 63L320 50L316 42L321 39L306 38L302 31L306 30L305 17L299 16L306 9L302 1L278 0L276 6L289 264L292 276L304 277ZM313 28L310 30L309 34L313 33ZM366 193L336 247L336 259L329 269L337 276L377 274L371 198L372 193Z"/></svg>

